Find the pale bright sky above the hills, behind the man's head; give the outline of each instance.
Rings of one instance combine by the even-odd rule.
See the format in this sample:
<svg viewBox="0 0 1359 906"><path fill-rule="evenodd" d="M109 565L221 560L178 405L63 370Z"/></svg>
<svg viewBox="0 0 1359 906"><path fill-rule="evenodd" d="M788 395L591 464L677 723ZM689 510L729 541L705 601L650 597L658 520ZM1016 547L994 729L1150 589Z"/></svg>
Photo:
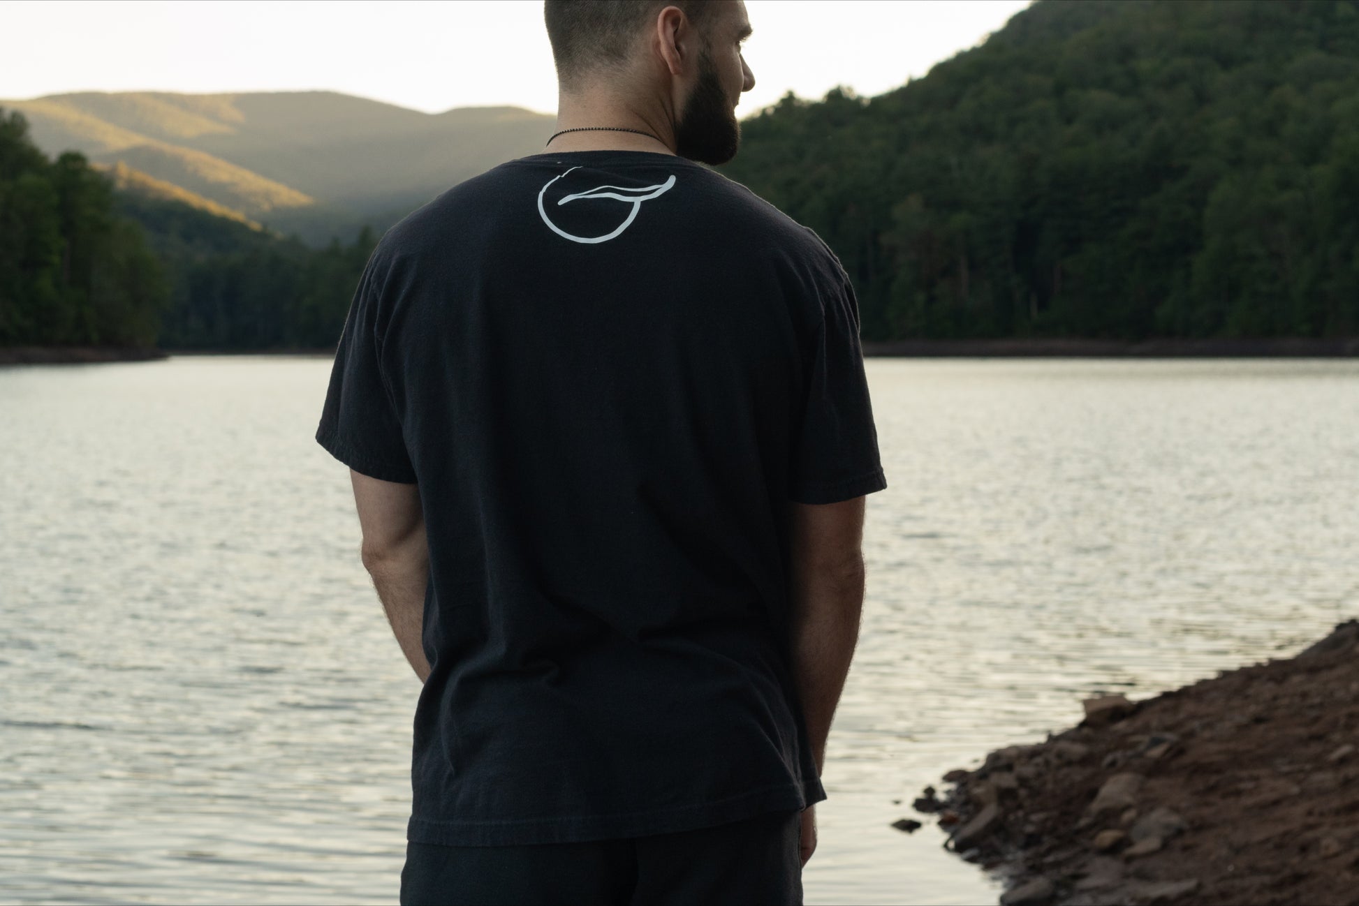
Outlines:
<svg viewBox="0 0 1359 906"><path fill-rule="evenodd" d="M872 95L970 48L1027 0L746 0L756 87ZM328 88L438 113L557 107L541 0L0 0L0 98Z"/></svg>

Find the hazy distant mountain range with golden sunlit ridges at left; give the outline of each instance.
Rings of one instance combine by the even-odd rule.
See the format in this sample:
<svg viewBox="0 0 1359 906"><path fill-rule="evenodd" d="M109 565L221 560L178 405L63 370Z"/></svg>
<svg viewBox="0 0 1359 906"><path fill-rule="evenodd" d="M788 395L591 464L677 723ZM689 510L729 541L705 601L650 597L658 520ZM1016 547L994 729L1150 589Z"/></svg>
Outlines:
<svg viewBox="0 0 1359 906"><path fill-rule="evenodd" d="M378 230L444 189L542 148L553 117L522 107L408 110L334 91L79 92L0 101L43 152L73 149L137 192L298 232ZM201 200L207 205L197 204Z"/></svg>

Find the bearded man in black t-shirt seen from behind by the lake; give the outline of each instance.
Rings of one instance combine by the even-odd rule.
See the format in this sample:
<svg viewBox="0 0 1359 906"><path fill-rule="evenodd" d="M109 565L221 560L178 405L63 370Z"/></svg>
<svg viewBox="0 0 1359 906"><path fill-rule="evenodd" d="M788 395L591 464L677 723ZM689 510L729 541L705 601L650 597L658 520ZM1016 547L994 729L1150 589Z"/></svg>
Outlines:
<svg viewBox="0 0 1359 906"><path fill-rule="evenodd" d="M393 227L317 440L424 682L404 903L800 903L886 486L739 0L548 0L559 129Z"/></svg>

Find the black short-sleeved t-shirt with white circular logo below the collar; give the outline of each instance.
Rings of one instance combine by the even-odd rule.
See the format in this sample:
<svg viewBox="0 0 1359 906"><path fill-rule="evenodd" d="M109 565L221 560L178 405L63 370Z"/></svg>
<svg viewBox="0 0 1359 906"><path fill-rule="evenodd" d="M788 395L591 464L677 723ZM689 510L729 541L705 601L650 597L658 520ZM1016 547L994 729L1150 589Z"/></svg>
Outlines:
<svg viewBox="0 0 1359 906"><path fill-rule="evenodd" d="M378 243L317 440L417 484L409 839L633 837L826 797L787 501L886 488L840 262L665 153L504 163Z"/></svg>

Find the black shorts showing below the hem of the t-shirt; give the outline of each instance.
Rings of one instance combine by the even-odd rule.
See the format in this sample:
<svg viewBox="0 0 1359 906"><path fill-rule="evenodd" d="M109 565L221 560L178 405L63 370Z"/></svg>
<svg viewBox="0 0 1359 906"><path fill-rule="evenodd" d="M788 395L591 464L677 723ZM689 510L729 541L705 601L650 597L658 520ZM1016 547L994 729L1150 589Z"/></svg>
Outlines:
<svg viewBox="0 0 1359 906"><path fill-rule="evenodd" d="M580 844L406 844L402 906L800 906L802 811Z"/></svg>

